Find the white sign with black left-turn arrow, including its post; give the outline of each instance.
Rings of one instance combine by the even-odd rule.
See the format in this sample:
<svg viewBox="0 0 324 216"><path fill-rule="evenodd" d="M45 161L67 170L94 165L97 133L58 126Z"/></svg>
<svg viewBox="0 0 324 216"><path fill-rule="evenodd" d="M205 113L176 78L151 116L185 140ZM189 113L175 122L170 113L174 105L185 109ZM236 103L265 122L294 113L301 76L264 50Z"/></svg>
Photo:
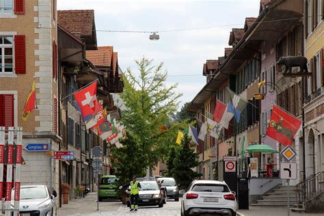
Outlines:
<svg viewBox="0 0 324 216"><path fill-rule="evenodd" d="M291 213L290 199L291 199L291 187L290 180L297 178L297 163L280 163L280 178L287 180L288 198L287 198L287 215Z"/></svg>

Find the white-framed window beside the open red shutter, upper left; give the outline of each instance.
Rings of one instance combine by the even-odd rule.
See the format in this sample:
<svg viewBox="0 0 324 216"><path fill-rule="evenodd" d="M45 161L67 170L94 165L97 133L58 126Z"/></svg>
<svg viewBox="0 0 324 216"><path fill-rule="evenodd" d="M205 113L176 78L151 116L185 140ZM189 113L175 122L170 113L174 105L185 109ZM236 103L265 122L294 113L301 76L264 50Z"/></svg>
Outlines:
<svg viewBox="0 0 324 216"><path fill-rule="evenodd" d="M0 74L14 72L12 36L0 36Z"/></svg>

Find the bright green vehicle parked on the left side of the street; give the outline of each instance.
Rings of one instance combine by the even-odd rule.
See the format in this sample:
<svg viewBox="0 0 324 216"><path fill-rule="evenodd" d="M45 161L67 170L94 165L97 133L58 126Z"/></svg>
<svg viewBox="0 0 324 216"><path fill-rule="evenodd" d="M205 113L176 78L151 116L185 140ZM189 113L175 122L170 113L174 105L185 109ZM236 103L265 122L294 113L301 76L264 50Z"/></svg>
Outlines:
<svg viewBox="0 0 324 216"><path fill-rule="evenodd" d="M101 176L99 181L99 201L105 199L120 199L117 188L116 176Z"/></svg>

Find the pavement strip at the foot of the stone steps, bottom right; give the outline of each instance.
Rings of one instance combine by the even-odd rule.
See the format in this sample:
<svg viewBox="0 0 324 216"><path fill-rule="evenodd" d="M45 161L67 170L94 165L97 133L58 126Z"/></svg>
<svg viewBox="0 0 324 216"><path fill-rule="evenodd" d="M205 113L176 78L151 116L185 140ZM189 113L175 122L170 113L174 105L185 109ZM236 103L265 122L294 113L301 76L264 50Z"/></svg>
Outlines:
<svg viewBox="0 0 324 216"><path fill-rule="evenodd" d="M237 211L240 216L286 216L287 208L285 207L275 207L275 206L249 206L249 209L239 209ZM323 213L290 213L291 216L301 216L301 215L323 215Z"/></svg>

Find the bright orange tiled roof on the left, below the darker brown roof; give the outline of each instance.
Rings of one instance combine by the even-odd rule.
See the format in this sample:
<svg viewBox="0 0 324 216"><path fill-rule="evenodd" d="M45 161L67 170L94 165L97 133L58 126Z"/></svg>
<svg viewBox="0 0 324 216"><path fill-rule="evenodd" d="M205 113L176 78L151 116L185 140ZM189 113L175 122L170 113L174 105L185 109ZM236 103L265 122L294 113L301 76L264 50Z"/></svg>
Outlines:
<svg viewBox="0 0 324 216"><path fill-rule="evenodd" d="M85 51L86 59L94 66L111 66L113 46L99 46L97 51Z"/></svg>

